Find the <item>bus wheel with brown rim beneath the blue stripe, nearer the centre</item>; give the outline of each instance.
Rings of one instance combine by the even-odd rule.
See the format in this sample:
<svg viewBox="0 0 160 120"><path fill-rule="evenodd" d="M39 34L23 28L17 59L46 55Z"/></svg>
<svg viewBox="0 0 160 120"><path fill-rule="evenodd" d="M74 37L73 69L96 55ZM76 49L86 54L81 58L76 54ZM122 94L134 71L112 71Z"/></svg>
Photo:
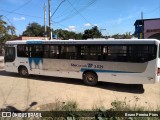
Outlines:
<svg viewBox="0 0 160 120"><path fill-rule="evenodd" d="M94 72L86 72L83 74L83 82L85 85L94 86L98 83L97 74Z"/></svg>

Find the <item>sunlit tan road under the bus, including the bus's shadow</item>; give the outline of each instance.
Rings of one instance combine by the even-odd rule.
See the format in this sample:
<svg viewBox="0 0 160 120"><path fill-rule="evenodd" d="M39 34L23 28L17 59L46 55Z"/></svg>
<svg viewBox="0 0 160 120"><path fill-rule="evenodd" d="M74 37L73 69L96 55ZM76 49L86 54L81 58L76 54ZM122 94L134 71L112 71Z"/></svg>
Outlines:
<svg viewBox="0 0 160 120"><path fill-rule="evenodd" d="M124 85L100 82L96 87L83 85L81 80L31 76L21 78L18 74L0 70L0 108L14 107L24 110L31 103L39 105L75 100L80 108L93 106L111 107L114 100L124 100L134 105L156 108L160 105L160 84Z"/></svg>

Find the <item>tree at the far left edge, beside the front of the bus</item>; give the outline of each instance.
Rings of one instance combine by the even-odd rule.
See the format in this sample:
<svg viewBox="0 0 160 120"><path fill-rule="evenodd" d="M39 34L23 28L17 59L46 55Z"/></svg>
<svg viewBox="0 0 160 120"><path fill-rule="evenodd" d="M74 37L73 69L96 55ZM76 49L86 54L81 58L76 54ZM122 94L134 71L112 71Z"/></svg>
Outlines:
<svg viewBox="0 0 160 120"><path fill-rule="evenodd" d="M15 27L8 25L8 23L0 17L0 42L14 39L17 37L15 33Z"/></svg>

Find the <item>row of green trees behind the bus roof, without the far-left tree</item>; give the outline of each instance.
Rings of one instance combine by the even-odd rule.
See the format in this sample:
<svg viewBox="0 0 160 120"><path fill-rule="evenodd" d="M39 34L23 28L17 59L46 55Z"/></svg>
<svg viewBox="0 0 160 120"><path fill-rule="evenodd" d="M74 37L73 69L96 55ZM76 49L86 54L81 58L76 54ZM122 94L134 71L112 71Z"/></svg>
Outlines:
<svg viewBox="0 0 160 120"><path fill-rule="evenodd" d="M115 38L115 39L130 39L133 37L133 35L130 34L130 32L126 32L125 34L115 34L115 35L105 35L103 36L101 33L101 30L97 26L92 27L91 29L86 29L81 33L76 33L74 31L68 31L68 30L52 30L53 34L58 35L58 39L88 39L88 38ZM49 36L49 27L47 26L47 36ZM22 33L22 36L38 36L43 37L44 36L44 26L41 26L40 24L33 22L29 23L26 27L26 30Z"/></svg>

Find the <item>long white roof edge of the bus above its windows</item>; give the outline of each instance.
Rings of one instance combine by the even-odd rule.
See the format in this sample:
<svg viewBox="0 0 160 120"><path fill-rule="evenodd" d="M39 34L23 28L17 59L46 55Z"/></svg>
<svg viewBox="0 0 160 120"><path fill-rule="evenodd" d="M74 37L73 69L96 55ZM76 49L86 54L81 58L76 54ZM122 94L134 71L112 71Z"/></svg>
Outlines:
<svg viewBox="0 0 160 120"><path fill-rule="evenodd" d="M156 39L15 40L6 44L157 44Z"/></svg>

